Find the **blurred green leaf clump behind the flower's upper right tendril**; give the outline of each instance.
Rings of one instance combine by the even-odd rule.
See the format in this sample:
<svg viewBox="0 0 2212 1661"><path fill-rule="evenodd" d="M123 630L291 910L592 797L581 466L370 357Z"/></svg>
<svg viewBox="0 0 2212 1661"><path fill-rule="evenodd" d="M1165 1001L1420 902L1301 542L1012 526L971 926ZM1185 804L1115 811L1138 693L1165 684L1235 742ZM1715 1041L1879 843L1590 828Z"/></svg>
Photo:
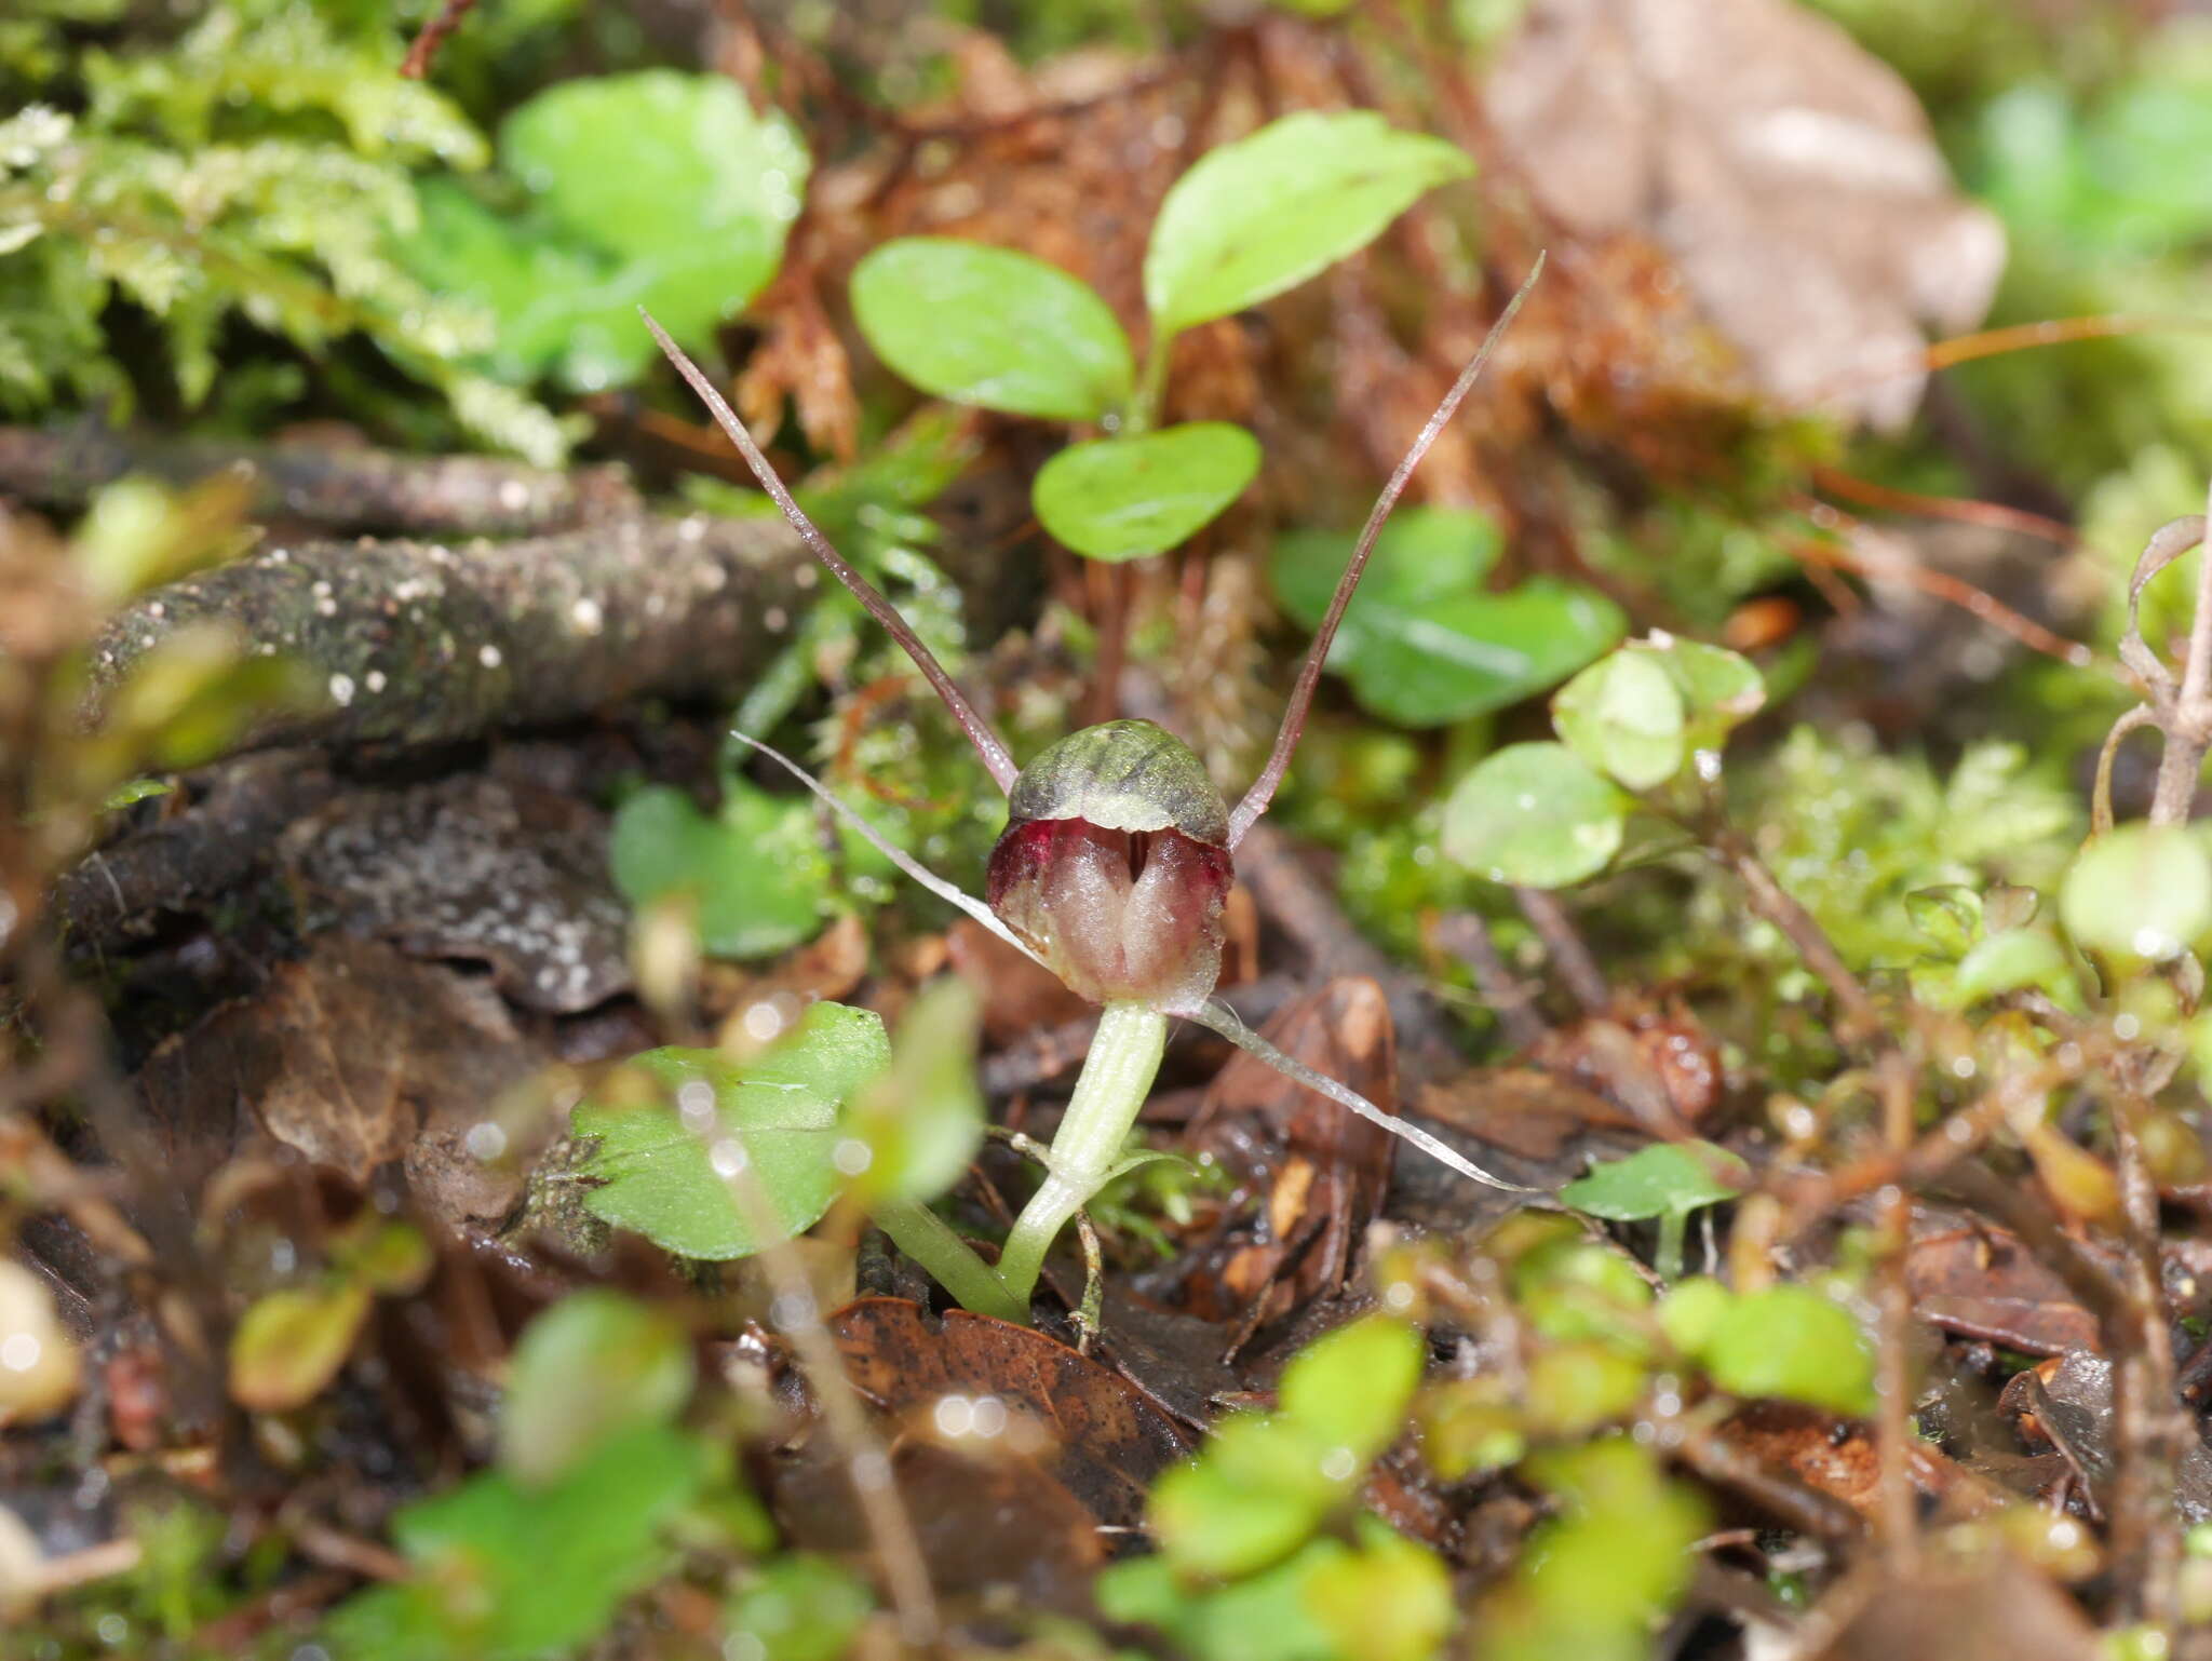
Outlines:
<svg viewBox="0 0 2212 1661"><path fill-rule="evenodd" d="M1619 608L1590 588L1537 577L1486 593L1498 549L1498 526L1462 509L1407 509L1383 529L1329 648L1365 710L1407 728L1467 721L1555 686L1621 637ZM1283 610L1316 628L1349 553L1352 535L1276 537Z"/></svg>

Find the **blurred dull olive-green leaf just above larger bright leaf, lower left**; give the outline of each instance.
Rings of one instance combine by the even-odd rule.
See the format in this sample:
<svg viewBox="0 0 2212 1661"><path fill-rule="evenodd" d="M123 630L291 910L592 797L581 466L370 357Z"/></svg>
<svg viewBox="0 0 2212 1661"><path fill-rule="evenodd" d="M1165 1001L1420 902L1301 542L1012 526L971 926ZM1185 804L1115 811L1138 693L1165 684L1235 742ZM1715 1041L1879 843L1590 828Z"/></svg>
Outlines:
<svg viewBox="0 0 2212 1661"><path fill-rule="evenodd" d="M611 1435L666 1424L692 1389L684 1331L617 1292L575 1292L522 1334L500 1409L500 1466L542 1488Z"/></svg>

